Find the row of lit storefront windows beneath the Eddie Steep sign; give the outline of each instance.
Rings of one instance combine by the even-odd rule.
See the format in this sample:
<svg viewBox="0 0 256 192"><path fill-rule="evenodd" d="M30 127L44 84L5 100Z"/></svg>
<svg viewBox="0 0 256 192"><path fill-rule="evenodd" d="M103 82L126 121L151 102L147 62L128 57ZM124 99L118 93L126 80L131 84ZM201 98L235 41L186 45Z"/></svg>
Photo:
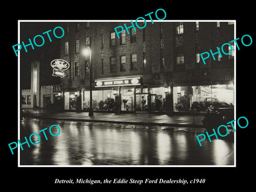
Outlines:
<svg viewBox="0 0 256 192"><path fill-rule="evenodd" d="M135 92L134 92L135 89ZM117 89L116 89L117 90ZM165 92L164 87L148 86L122 86L120 90L121 111L164 111ZM92 108L93 110L115 111L116 102L114 89L93 90ZM77 110L77 105L81 105L82 111L90 109L90 91L65 92L65 110ZM81 103L78 101L81 100Z"/></svg>

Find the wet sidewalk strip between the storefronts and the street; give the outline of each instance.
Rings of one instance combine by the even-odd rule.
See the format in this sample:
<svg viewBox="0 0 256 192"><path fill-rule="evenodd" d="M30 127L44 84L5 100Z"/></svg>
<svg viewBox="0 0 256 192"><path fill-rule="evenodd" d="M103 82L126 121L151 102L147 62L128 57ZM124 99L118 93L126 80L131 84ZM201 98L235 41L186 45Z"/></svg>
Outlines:
<svg viewBox="0 0 256 192"><path fill-rule="evenodd" d="M47 113L43 110L29 109L31 118L40 119L55 119L65 121L82 121L82 122L101 122L101 123L122 123L122 124L137 124L137 125L158 125L158 126L178 126L178 127L199 127L202 128L203 114L195 115L195 124L193 124L193 115L160 115L148 113L98 113L94 116L89 116L88 112L70 112Z"/></svg>

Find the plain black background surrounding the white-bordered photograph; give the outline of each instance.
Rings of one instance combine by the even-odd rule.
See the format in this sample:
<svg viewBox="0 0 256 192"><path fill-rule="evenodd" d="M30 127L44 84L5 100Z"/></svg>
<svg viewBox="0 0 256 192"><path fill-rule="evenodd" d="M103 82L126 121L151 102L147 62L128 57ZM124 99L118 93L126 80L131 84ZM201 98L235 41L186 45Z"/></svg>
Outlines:
<svg viewBox="0 0 256 192"><path fill-rule="evenodd" d="M6 6L2 12L2 188L7 190L54 190L78 189L91 191L93 189L127 189L148 187L150 189L179 189L187 191L193 189L234 190L241 186L250 188L254 184L254 108L255 108L255 79L254 54L255 35L253 20L253 3L245 1L229 2L97 2L97 5L88 2L37 2L34 4L13 3ZM9 8L7 8L9 7ZM249 119L249 126L241 129L237 126L236 134L236 167L18 167L18 156L12 155L8 143L18 138L18 58L12 45L18 43L18 20L135 20L143 15L155 12L162 8L166 11L165 20L236 20L236 38L248 34L253 43L249 47L240 46L236 54L236 119L245 116ZM154 18L153 18L154 19ZM42 31L43 32L43 31ZM31 37L33 38L33 37ZM36 47L38 49L39 47ZM29 53L29 52L28 52ZM151 184L151 185L67 185L54 184L55 178L73 179L201 179L204 184ZM81 188L81 189L80 189ZM238 188L237 188L238 189Z"/></svg>

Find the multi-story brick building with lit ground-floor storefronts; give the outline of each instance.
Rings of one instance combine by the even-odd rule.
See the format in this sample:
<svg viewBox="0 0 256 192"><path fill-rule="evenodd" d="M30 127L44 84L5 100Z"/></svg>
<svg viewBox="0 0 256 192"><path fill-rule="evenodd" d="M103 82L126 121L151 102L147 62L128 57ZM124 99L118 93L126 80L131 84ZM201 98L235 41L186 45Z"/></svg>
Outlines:
<svg viewBox="0 0 256 192"><path fill-rule="evenodd" d="M206 65L199 57L230 43L234 22L154 21L136 31L129 28L129 34L124 30L117 38L114 28L124 23L131 26L127 21L62 23L60 59L70 64L61 78L66 110L90 106L90 57L83 54L87 47L93 110L171 113L189 111L193 103L209 98L234 103L234 51L215 54ZM229 49L224 47L226 53Z"/></svg>

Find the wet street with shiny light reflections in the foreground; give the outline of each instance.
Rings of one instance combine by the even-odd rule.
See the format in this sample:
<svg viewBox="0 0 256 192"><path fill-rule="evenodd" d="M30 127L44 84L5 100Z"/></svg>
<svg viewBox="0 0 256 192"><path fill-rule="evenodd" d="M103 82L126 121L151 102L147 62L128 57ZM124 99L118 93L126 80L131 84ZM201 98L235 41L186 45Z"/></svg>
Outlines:
<svg viewBox="0 0 256 192"><path fill-rule="evenodd" d="M49 133L53 124L61 129L57 137ZM45 127L48 140L38 133ZM200 147L196 135L204 131L27 118L21 120L21 142L31 133L38 133L41 142L23 145L20 165L234 165L234 139L212 137L210 143L206 138ZM52 132L57 134L57 127ZM32 141L38 137L33 135Z"/></svg>

